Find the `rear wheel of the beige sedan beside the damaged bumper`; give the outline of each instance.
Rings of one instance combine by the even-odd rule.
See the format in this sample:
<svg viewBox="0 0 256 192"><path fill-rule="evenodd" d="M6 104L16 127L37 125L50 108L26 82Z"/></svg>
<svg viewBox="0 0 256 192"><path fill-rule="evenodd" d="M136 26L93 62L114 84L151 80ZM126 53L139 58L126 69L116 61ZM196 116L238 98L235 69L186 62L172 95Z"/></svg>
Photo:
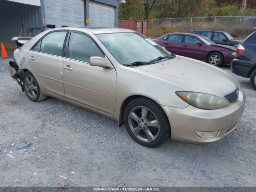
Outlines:
<svg viewBox="0 0 256 192"><path fill-rule="evenodd" d="M34 102L39 102L47 98L46 95L41 93L36 78L29 71L24 74L24 90L28 98Z"/></svg>

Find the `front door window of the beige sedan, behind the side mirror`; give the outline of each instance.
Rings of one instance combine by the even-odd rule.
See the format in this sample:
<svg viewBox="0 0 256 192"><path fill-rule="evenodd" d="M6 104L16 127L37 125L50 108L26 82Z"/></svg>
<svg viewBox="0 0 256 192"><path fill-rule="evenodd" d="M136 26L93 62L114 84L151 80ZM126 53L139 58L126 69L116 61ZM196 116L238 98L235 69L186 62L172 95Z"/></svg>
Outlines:
<svg viewBox="0 0 256 192"><path fill-rule="evenodd" d="M92 56L104 58L104 54L88 36L72 32L68 44L68 58L90 62Z"/></svg>

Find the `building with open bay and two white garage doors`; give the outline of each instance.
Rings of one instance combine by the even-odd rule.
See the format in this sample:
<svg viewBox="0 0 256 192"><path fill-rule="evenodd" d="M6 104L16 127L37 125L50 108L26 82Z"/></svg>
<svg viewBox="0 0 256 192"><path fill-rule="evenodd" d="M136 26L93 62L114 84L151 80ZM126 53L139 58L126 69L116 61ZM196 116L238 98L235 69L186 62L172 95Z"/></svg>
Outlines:
<svg viewBox="0 0 256 192"><path fill-rule="evenodd" d="M14 48L14 36L35 36L65 26L118 26L119 3L125 0L1 0L0 42ZM29 28L39 28L28 31Z"/></svg>

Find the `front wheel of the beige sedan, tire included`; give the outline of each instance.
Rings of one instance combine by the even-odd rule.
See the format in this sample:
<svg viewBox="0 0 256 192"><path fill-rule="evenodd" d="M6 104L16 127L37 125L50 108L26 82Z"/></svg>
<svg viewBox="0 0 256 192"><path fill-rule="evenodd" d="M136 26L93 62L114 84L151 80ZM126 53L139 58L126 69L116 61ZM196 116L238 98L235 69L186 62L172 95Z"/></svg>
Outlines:
<svg viewBox="0 0 256 192"><path fill-rule="evenodd" d="M170 135L170 123L165 112L156 102L144 97L127 104L124 124L133 140L150 148L160 146Z"/></svg>

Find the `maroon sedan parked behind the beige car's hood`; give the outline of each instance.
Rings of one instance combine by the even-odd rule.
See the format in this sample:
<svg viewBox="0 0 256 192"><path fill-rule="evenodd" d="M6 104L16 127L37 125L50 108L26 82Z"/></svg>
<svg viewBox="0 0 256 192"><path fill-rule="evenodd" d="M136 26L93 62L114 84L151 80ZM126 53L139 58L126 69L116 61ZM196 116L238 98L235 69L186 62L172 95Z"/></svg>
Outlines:
<svg viewBox="0 0 256 192"><path fill-rule="evenodd" d="M170 33L153 40L173 54L206 61L214 66L230 64L236 55L235 47L216 44L197 34Z"/></svg>

